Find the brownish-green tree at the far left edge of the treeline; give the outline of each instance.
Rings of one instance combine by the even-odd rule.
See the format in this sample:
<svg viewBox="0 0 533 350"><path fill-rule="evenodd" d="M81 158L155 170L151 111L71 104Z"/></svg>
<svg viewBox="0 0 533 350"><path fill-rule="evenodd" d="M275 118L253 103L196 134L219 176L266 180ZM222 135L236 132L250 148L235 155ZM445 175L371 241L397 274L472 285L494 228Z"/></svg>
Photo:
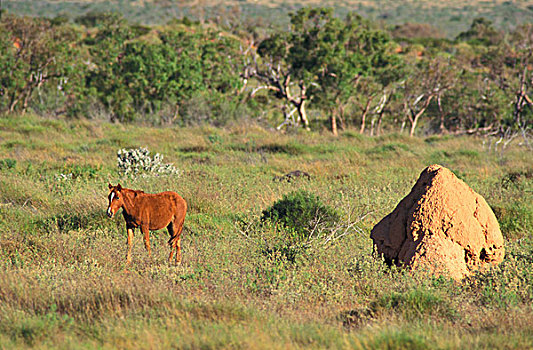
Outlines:
<svg viewBox="0 0 533 350"><path fill-rule="evenodd" d="M47 19L4 16L0 32L0 95L7 110L26 112L34 91L47 85L72 85L69 77L79 68L74 31Z"/></svg>

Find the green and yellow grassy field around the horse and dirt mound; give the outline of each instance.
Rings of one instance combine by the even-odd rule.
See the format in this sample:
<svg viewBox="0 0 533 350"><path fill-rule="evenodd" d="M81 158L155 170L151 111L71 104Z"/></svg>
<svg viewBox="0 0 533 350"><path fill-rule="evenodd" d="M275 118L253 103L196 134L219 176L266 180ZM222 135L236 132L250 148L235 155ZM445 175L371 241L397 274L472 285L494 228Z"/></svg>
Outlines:
<svg viewBox="0 0 533 350"><path fill-rule="evenodd" d="M121 177L117 151L137 147L180 175ZM518 140L495 152L478 138L25 116L0 119L0 154L2 349L533 346L533 157ZM485 197L506 238L504 262L462 283L372 257L371 228L433 163ZM272 181L295 169L311 179ZM166 262L166 231L151 260L137 232L126 265L109 182L188 201L181 266ZM296 190L334 208L345 235L277 249L286 232L257 222Z"/></svg>

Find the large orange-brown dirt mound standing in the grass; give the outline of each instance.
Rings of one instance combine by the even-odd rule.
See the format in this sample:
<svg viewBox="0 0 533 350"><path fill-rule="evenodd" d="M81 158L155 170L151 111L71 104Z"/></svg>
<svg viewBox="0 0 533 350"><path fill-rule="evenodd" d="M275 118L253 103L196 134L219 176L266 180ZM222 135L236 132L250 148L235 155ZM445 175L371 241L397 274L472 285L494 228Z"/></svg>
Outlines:
<svg viewBox="0 0 533 350"><path fill-rule="evenodd" d="M483 197L431 165L370 237L386 261L460 280L503 260L503 236Z"/></svg>

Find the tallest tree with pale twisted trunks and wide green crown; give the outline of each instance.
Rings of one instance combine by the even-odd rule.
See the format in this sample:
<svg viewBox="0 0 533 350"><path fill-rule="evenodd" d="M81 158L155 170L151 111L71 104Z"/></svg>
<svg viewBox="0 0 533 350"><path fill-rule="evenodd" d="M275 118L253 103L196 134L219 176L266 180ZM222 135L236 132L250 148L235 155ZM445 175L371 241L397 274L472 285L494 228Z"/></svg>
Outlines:
<svg viewBox="0 0 533 350"><path fill-rule="evenodd" d="M255 60L252 76L259 86L252 95L261 89L274 92L295 108L307 129L306 103L313 101L329 112L336 134L337 117L359 78L375 75L388 82L386 72L399 60L387 52L389 37L360 16L342 21L331 9L303 8L290 17L290 32L276 33L258 47L262 61Z"/></svg>

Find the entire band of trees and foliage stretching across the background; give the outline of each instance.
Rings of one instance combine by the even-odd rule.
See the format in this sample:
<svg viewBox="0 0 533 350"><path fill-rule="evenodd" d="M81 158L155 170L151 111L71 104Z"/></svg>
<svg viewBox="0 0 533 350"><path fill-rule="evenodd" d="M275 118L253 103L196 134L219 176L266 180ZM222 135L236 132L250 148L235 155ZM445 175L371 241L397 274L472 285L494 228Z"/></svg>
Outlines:
<svg viewBox="0 0 533 350"><path fill-rule="evenodd" d="M419 38L426 27L412 24L391 35L333 8L291 12L288 30L229 12L229 22L161 26L93 10L75 23L6 13L0 112L215 126L283 116L278 129L497 134L531 148L529 24L503 32L477 18L452 41Z"/></svg>

